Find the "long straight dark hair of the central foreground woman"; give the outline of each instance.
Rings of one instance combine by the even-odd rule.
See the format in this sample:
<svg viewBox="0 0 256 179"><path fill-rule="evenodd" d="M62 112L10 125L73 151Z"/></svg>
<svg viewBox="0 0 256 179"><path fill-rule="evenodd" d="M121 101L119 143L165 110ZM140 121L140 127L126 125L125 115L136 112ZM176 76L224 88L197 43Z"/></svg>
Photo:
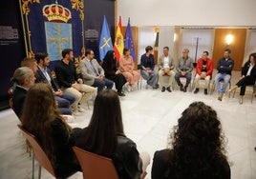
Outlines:
<svg viewBox="0 0 256 179"><path fill-rule="evenodd" d="M96 95L93 115L76 146L111 157L117 149L117 135L123 134L117 92L105 89Z"/></svg>

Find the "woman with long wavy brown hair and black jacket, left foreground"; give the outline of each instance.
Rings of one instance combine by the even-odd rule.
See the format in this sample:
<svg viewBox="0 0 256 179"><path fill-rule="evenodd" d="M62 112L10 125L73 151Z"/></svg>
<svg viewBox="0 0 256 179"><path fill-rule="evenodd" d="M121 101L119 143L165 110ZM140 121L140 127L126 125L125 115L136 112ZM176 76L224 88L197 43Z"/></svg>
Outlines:
<svg viewBox="0 0 256 179"><path fill-rule="evenodd" d="M66 177L81 170L72 149L81 129L72 129L65 122L48 83L35 84L28 90L21 123L40 142L56 176Z"/></svg>

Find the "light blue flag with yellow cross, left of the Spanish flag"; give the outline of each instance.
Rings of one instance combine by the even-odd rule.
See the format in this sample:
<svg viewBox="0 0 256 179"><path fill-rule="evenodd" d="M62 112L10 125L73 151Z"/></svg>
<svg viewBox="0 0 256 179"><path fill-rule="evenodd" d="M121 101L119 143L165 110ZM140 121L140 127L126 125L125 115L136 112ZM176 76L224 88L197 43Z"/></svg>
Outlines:
<svg viewBox="0 0 256 179"><path fill-rule="evenodd" d="M109 25L104 15L103 24L101 27L101 33L99 36L98 51L99 59L102 61L108 50L113 50L113 44L110 37Z"/></svg>

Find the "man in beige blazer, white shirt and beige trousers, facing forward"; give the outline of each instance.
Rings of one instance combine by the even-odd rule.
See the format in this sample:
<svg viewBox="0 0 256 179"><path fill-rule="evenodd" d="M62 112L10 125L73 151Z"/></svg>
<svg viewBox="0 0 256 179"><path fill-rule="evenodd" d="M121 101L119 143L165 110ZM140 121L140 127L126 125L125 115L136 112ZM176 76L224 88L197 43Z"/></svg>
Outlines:
<svg viewBox="0 0 256 179"><path fill-rule="evenodd" d="M171 86L173 84L174 80L174 64L173 64L173 57L171 54L169 54L169 48L164 47L163 48L163 54L159 58L159 78L160 78L160 86L161 91L164 92L165 89L167 89L169 92L171 92ZM163 83L163 76L166 76L169 78L168 84L165 85Z"/></svg>

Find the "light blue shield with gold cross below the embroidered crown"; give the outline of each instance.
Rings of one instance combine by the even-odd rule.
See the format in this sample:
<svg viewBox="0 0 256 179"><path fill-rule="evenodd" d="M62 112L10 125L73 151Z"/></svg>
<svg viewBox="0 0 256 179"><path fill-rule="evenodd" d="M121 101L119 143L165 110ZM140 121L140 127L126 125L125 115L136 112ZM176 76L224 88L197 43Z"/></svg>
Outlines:
<svg viewBox="0 0 256 179"><path fill-rule="evenodd" d="M51 61L62 59L61 51L72 48L72 25L45 22L46 46Z"/></svg>

